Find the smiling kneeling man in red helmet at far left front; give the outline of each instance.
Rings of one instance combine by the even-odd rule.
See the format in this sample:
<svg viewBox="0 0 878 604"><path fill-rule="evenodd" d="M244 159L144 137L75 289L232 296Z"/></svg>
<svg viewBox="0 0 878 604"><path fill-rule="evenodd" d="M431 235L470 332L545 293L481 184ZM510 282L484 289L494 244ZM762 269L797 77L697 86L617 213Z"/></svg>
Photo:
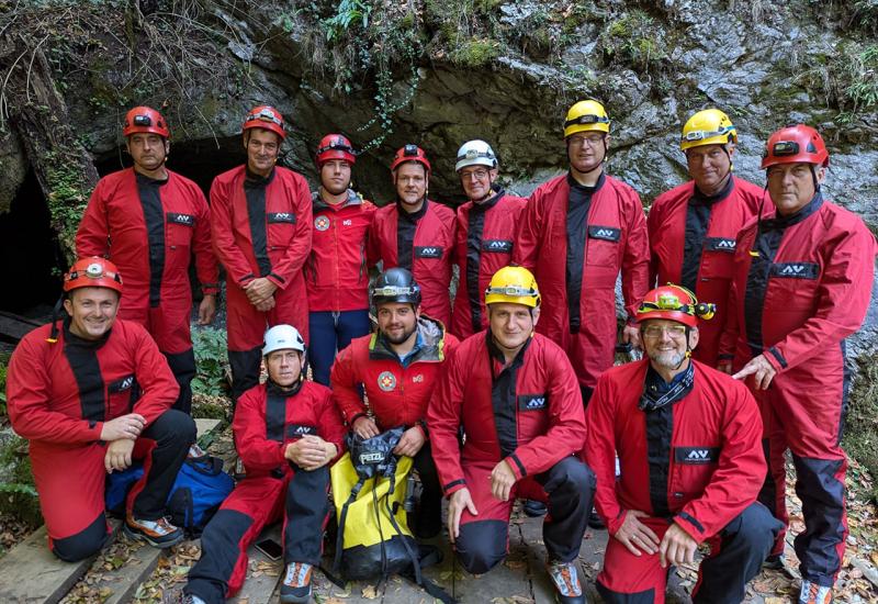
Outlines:
<svg viewBox="0 0 878 604"><path fill-rule="evenodd" d="M13 429L30 441L49 549L61 560L97 553L110 536L104 479L143 459L125 502L124 530L155 547L183 532L165 502L195 439L195 423L171 410L180 387L139 324L116 318L122 277L103 258L64 276L67 315L21 340L9 363Z"/></svg>

